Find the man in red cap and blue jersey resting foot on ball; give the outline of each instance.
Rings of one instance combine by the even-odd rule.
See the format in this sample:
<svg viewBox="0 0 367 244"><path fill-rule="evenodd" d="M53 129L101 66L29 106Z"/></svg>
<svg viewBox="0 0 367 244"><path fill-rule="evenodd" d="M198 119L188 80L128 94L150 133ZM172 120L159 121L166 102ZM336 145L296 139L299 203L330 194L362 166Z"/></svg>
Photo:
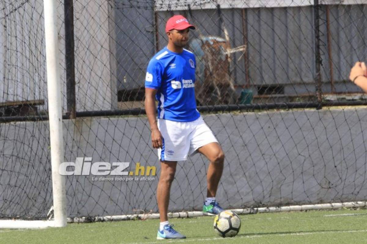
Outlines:
<svg viewBox="0 0 367 244"><path fill-rule="evenodd" d="M224 152L196 109L196 61L194 54L184 49L189 29L195 27L182 15L168 19L168 45L149 61L145 77L145 110L152 131L152 146L158 149L161 163L157 187L160 213L157 239L186 238L168 223L167 211L177 161L185 161L188 155L199 152L210 161L203 213L215 215L223 211L215 194L222 176Z"/></svg>

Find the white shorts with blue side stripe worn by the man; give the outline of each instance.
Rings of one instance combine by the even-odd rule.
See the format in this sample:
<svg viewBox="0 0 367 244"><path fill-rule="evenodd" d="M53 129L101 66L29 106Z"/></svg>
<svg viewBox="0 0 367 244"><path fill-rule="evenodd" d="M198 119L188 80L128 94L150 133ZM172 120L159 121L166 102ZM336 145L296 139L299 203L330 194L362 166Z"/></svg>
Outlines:
<svg viewBox="0 0 367 244"><path fill-rule="evenodd" d="M190 122L158 119L157 124L163 137L163 146L158 149L160 161L185 161L199 147L218 142L201 116Z"/></svg>

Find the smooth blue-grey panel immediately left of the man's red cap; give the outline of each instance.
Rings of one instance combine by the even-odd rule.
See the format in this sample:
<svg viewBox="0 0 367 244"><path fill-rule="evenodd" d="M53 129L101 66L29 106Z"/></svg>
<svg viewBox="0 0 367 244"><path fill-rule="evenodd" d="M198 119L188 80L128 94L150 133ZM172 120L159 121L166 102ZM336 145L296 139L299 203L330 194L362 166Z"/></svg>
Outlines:
<svg viewBox="0 0 367 244"><path fill-rule="evenodd" d="M146 67L155 54L153 0L137 6L119 1L115 6L118 90L144 86Z"/></svg>

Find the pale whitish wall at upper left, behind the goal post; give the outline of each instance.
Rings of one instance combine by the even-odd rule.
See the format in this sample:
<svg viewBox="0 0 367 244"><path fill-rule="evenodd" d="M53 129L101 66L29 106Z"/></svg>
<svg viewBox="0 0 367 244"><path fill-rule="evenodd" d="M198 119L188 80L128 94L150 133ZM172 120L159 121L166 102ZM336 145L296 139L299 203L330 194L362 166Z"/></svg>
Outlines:
<svg viewBox="0 0 367 244"><path fill-rule="evenodd" d="M62 2L63 3L63 2ZM117 103L110 69L108 1L74 4L77 111L110 110ZM66 110L64 5L57 6L59 58ZM44 100L47 110L43 1L4 3L0 11L0 102ZM67 111L64 111L67 112Z"/></svg>

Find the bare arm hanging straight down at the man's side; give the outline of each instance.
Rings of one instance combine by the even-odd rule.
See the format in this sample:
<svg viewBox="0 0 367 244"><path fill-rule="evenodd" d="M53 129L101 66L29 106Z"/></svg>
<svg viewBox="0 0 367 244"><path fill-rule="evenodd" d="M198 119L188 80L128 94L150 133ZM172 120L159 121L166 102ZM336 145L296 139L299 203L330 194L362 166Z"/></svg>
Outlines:
<svg viewBox="0 0 367 244"><path fill-rule="evenodd" d="M156 89L145 88L145 112L148 117L150 130L152 131L152 146L153 148L162 147L162 135L158 129L156 117Z"/></svg>

